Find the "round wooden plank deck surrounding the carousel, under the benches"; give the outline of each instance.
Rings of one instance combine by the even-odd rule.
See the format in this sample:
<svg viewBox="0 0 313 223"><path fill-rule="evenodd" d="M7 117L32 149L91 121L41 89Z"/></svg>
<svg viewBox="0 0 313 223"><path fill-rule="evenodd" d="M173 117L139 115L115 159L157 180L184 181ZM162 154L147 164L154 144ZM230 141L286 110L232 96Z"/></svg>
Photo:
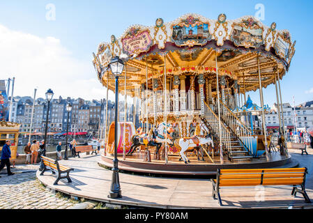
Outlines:
<svg viewBox="0 0 313 223"><path fill-rule="evenodd" d="M300 155L299 151L292 153L301 167L307 167L306 189L308 196L313 198L312 185L312 155ZM264 186L264 200L255 200L254 187L222 188L222 202L219 206L212 194L212 183L204 178L171 178L151 177L119 173L122 198L109 199L112 171L99 167L100 155L82 155L60 163L74 169L70 178L72 183L61 179L59 185L53 185L55 176L47 171L37 178L41 183L59 192L74 197L91 199L121 206L136 206L139 208L313 208L305 203L303 197L297 194L291 196L291 186Z"/></svg>

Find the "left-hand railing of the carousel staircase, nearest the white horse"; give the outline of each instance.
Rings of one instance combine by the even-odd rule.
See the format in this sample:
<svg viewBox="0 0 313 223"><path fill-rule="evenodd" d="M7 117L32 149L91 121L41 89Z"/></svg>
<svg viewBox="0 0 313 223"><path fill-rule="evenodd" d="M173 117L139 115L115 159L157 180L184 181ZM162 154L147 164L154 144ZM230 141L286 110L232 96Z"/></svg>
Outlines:
<svg viewBox="0 0 313 223"><path fill-rule="evenodd" d="M221 132L220 132L220 127L219 127L219 118L213 112L211 107L209 107L206 102L204 102L204 118L206 118L206 121L208 122L209 125L211 125L211 128L215 132L215 134L220 134L220 143L222 143L227 151L231 153L231 132L227 129L227 127L224 125L224 123L221 121Z"/></svg>

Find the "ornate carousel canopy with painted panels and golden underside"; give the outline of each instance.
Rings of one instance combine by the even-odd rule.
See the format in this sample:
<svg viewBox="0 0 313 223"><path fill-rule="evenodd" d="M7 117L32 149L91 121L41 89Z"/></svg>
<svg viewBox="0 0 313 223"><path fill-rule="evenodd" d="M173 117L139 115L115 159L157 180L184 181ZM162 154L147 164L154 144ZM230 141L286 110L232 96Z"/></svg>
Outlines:
<svg viewBox="0 0 313 223"><path fill-rule="evenodd" d="M275 22L268 27L253 16L227 20L220 14L211 20L186 14L172 22L158 18L153 26L130 26L119 38L112 35L110 43L98 45L93 66L103 86L108 84L114 91L114 76L107 66L113 56L119 56L126 61L120 89L123 93L126 79L127 93L134 95L146 79L149 89L152 79L158 79L162 88L165 70L167 78L203 74L214 83L217 61L218 75L226 77L229 87L237 80L242 91L256 91L258 70L263 87L275 83L277 72L281 79L289 69L295 44L289 31L276 30Z"/></svg>

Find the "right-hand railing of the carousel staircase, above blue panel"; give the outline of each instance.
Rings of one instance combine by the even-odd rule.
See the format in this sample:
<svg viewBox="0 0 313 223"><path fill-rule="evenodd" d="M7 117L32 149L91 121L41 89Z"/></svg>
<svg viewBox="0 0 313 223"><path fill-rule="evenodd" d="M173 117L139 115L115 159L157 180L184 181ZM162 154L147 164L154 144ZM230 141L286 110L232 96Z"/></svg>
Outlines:
<svg viewBox="0 0 313 223"><path fill-rule="evenodd" d="M252 131L220 100L221 117L224 123L241 140L243 146L252 151Z"/></svg>

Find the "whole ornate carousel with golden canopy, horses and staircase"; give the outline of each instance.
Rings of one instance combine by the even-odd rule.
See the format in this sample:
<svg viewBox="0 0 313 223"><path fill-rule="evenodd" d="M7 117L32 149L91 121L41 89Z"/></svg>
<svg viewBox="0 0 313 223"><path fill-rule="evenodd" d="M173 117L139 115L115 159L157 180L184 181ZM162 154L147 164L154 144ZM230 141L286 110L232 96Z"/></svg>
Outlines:
<svg viewBox="0 0 313 223"><path fill-rule="evenodd" d="M112 35L93 53L93 66L107 91L115 92L109 64L114 58L123 61L119 93L125 102L133 98L134 118L106 123L102 164L112 167L117 126L123 170L197 175L217 168L291 166L286 148L268 150L263 91L275 84L282 110L280 80L295 44L275 22L268 27L252 16L227 20L224 14L217 20L197 14L172 22L158 18L152 26L136 24L119 38ZM249 91L259 91L261 105L243 100ZM247 112L259 114L258 131ZM283 141L284 117L278 114Z"/></svg>

